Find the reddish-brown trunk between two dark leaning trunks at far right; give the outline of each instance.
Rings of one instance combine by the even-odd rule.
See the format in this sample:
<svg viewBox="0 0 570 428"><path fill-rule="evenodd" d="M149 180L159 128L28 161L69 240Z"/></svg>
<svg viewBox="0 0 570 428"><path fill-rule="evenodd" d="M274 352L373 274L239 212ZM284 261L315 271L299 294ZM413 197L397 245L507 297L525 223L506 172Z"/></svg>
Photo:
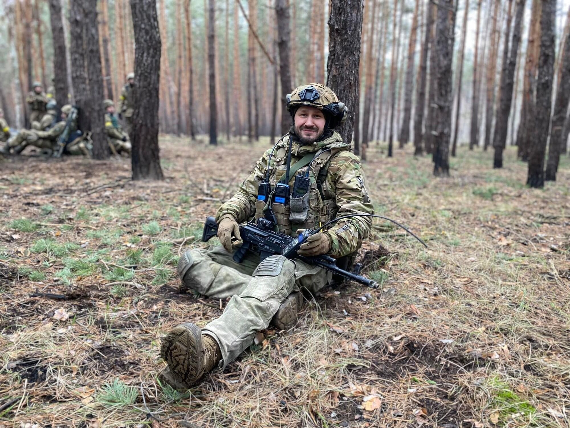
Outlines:
<svg viewBox="0 0 570 428"><path fill-rule="evenodd" d="M528 27L526 64L524 67L523 100L520 106L520 123L516 135L517 155L528 160L533 118L534 91L536 85L536 62L540 46L540 7L541 0L532 1L531 22Z"/></svg>

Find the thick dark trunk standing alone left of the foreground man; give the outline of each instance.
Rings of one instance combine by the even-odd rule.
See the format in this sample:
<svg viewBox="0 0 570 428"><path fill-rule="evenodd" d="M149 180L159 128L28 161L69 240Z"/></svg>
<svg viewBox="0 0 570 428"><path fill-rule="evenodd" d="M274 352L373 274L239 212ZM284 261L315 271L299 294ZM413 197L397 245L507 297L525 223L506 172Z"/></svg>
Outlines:
<svg viewBox="0 0 570 428"><path fill-rule="evenodd" d="M131 0L135 31L133 88L133 180L162 180L158 150L158 89L161 41L156 0Z"/></svg>

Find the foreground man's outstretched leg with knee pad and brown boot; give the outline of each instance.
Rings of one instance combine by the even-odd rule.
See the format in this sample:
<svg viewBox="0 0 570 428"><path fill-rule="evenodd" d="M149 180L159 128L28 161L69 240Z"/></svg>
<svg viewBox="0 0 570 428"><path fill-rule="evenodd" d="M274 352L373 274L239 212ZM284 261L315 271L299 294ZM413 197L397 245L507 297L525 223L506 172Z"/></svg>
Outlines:
<svg viewBox="0 0 570 428"><path fill-rule="evenodd" d="M186 322L164 338L161 356L176 385L190 387L216 365L225 368L253 343L256 332L267 328L282 302L298 292L299 286L316 290L330 279L322 268L280 255L267 257L255 268L245 289L231 298L222 316L207 324L201 334L196 325ZM216 346L206 352L211 341Z"/></svg>

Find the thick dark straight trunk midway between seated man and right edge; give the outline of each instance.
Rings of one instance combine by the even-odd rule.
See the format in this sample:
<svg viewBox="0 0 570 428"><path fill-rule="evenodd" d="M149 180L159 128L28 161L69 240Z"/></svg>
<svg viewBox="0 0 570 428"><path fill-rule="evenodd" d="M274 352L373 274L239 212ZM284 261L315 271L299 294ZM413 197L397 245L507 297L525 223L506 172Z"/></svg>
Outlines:
<svg viewBox="0 0 570 428"><path fill-rule="evenodd" d="M451 137L451 63L455 34L455 8L453 0L439 0L435 30L435 51L437 51L437 139L433 151L433 174L449 176L449 142Z"/></svg>

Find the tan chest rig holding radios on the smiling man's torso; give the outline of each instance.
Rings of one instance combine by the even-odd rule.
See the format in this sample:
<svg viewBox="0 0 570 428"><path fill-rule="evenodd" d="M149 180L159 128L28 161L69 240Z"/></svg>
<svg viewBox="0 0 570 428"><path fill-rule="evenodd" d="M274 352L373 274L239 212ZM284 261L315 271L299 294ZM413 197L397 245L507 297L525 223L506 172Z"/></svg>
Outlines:
<svg viewBox="0 0 570 428"><path fill-rule="evenodd" d="M265 180L259 183L255 219L273 221L279 232L296 236L297 229L319 227L335 218L335 189L327 180L332 158L347 147L323 147L292 161L285 144L275 146L268 158ZM288 180L287 180L288 178Z"/></svg>

